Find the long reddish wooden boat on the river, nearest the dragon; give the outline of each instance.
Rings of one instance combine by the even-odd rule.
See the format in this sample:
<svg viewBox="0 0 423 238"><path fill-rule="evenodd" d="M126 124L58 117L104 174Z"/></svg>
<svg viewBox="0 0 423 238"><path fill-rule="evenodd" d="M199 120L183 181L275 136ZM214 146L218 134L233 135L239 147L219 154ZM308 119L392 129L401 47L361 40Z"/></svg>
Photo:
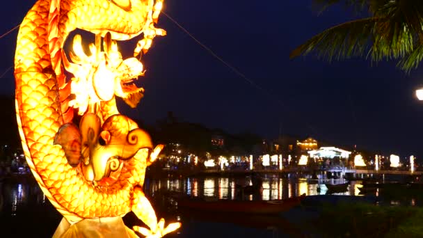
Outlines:
<svg viewBox="0 0 423 238"><path fill-rule="evenodd" d="M182 199L177 201L178 208L195 209L207 212L228 212L247 214L277 214L285 212L301 203L305 194L284 200L195 200Z"/></svg>

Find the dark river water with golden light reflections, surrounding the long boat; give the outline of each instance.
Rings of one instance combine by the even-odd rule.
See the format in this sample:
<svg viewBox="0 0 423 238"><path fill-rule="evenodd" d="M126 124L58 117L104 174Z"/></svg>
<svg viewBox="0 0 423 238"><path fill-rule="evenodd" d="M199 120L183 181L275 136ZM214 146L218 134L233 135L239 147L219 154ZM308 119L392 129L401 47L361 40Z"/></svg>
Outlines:
<svg viewBox="0 0 423 238"><path fill-rule="evenodd" d="M61 221L61 215L33 180L32 175L24 175L13 180L0 182L0 237L51 237L56 226ZM163 194L183 193L186 196L228 199L228 200L280 200L300 196L324 195L328 192L325 183L338 184L344 180L310 180L297 175L262 175L262 192L259 195L242 197L237 192L236 185L250 184L250 177L167 177L145 180L145 194L156 209L158 216L166 221L181 221L183 226L179 232L168 237L296 237L301 232L290 231L289 218L281 216L271 218L269 223L278 223L278 228L272 225L255 227L255 223L246 225L246 221L263 219L257 217L214 217L214 219L199 219L198 217L181 214L172 199L164 198ZM358 187L360 182L351 182L347 191L337 193L345 196L362 196ZM369 196L377 197L378 192ZM418 198L405 200L388 200L388 203L418 205ZM265 218L269 219L269 218ZM245 220L244 223L239 220ZM125 223L139 225L133 214L124 217ZM233 221L233 222L232 222ZM260 220L262 221L262 220ZM253 225L251 225L253 224ZM294 234L294 235L292 235ZM4 235L4 236L3 236ZM7 235L7 236L6 236ZM298 235L301 237L301 235Z"/></svg>

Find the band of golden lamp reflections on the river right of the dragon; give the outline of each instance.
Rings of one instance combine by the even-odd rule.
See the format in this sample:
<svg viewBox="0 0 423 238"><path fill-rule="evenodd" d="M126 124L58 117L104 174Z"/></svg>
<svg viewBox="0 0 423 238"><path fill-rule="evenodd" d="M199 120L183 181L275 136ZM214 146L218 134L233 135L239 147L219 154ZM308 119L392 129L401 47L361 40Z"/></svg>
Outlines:
<svg viewBox="0 0 423 238"><path fill-rule="evenodd" d="M244 196L248 200L280 200L294 196L324 195L328 193L325 183L342 184L344 180L308 180L306 178L287 178L264 175L262 190L259 196ZM145 193L154 194L159 190L185 193L192 197L208 197L227 200L240 199L239 187L251 184L250 177L189 177L150 180ZM163 186L165 184L165 186ZM352 181L346 191L333 193L337 195L362 196L358 187L362 184Z"/></svg>

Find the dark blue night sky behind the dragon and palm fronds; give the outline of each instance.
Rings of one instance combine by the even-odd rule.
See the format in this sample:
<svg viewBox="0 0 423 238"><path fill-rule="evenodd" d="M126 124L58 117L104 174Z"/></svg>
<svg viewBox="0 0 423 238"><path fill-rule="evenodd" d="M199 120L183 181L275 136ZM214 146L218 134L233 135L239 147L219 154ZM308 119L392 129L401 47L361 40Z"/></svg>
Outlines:
<svg viewBox="0 0 423 238"><path fill-rule="evenodd" d="M33 3L6 3L0 33L19 24ZM423 86L422 70L405 74L394 62L372 65L363 58L289 59L312 35L353 19L344 8L319 15L310 0L184 0L165 1L164 11L254 85L161 15L159 26L168 35L143 58L147 72L139 83L145 97L137 109L124 109L129 116L153 124L173 111L181 120L231 133L277 138L281 131L334 145L423 155L423 102L414 94ZM16 35L0 39L0 73L13 65ZM1 80L0 93L12 95L13 71Z"/></svg>

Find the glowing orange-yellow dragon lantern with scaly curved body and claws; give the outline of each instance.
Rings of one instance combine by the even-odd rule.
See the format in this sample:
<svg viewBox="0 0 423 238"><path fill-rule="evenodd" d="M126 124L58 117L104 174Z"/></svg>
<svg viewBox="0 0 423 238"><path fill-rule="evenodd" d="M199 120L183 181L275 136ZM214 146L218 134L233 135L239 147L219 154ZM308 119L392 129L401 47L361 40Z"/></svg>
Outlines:
<svg viewBox="0 0 423 238"><path fill-rule="evenodd" d="M157 222L142 191L145 168L163 146L120 115L115 97L135 107L143 96L132 80L137 58L123 59L115 40L143 34L134 57L150 48L162 0L38 0L24 18L15 55L16 108L26 161L64 218L54 237L161 237L179 228ZM85 54L74 29L95 34ZM78 114L78 115L77 115ZM74 121L79 121L78 123ZM134 212L150 229L127 228ZM135 231L135 232L134 232ZM101 233L101 234L100 234Z"/></svg>

